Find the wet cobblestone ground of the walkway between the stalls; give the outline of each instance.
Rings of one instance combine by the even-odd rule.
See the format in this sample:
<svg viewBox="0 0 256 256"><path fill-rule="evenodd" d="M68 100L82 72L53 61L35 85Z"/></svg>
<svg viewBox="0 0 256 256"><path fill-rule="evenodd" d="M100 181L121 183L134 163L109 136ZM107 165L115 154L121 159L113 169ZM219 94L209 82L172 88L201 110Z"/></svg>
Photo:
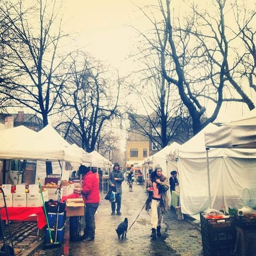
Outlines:
<svg viewBox="0 0 256 256"><path fill-rule="evenodd" d="M62 248L40 250L34 256L202 256L200 232L190 223L176 219L175 212L164 215L162 237L150 239L150 214L142 210L141 214L127 232L126 239L118 240L115 229L128 218L128 228L132 225L142 206L147 193L142 186L134 184L133 192L128 191L128 184L123 184L121 216L110 215L110 203L101 200L96 217L96 236L93 242L69 242L68 225ZM84 221L84 218L83 218ZM84 224L84 222L83 222ZM82 230L83 230L82 225Z"/></svg>

